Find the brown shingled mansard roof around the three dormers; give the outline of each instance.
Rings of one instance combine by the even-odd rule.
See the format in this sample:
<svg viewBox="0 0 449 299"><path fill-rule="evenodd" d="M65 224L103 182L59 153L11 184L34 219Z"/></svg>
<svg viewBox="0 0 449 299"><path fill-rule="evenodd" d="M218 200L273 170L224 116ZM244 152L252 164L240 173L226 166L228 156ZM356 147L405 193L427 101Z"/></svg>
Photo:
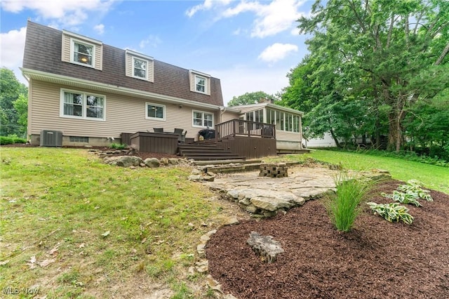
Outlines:
<svg viewBox="0 0 449 299"><path fill-rule="evenodd" d="M41 72L111 84L138 91L168 95L222 106L220 79L210 77L210 95L190 91L189 70L154 60L154 82L125 75L125 50L103 44L103 69L74 65L61 60L62 32L28 21L23 67Z"/></svg>

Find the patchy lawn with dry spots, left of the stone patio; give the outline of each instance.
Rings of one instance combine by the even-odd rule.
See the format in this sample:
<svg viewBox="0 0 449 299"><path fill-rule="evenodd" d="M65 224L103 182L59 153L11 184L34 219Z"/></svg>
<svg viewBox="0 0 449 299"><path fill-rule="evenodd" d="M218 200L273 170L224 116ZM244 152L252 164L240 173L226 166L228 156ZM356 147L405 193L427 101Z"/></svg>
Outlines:
<svg viewBox="0 0 449 299"><path fill-rule="evenodd" d="M158 281L191 298L188 268L212 229L202 224L220 219L221 207L187 180L190 171L109 166L86 150L2 148L0 289L133 297Z"/></svg>

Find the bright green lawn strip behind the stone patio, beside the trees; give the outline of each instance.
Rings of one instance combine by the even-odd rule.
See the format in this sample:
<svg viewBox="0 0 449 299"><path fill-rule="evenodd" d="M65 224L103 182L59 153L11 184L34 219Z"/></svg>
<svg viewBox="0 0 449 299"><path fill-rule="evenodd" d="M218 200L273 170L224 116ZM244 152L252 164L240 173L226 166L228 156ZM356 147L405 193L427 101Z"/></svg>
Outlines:
<svg viewBox="0 0 449 299"><path fill-rule="evenodd" d="M316 159L330 164L341 164L343 168L368 170L381 168L389 171L396 180L419 180L424 187L449 194L449 168L407 161L394 157L379 157L355 152L313 150L310 154L288 154L267 161L306 161Z"/></svg>

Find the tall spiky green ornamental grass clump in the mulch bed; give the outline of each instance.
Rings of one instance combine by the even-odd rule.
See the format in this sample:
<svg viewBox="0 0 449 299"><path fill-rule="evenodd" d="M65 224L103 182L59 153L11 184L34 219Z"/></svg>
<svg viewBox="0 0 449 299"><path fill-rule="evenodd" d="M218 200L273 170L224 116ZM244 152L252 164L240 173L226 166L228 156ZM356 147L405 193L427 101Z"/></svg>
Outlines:
<svg viewBox="0 0 449 299"><path fill-rule="evenodd" d="M373 190L375 181L362 178L361 175L340 172L335 178L337 192L325 201L330 220L337 230L349 232L354 221L361 213L360 204Z"/></svg>

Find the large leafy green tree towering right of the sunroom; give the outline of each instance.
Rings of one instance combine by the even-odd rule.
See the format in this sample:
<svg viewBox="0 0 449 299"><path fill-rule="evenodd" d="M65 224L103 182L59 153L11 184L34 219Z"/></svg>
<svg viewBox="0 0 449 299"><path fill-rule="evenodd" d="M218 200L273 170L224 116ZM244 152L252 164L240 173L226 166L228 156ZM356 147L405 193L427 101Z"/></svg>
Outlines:
<svg viewBox="0 0 449 299"><path fill-rule="evenodd" d="M281 102L309 112L311 135L369 132L379 145L385 133L400 150L409 115L449 88L449 2L325 2L298 20L310 55L290 70Z"/></svg>

